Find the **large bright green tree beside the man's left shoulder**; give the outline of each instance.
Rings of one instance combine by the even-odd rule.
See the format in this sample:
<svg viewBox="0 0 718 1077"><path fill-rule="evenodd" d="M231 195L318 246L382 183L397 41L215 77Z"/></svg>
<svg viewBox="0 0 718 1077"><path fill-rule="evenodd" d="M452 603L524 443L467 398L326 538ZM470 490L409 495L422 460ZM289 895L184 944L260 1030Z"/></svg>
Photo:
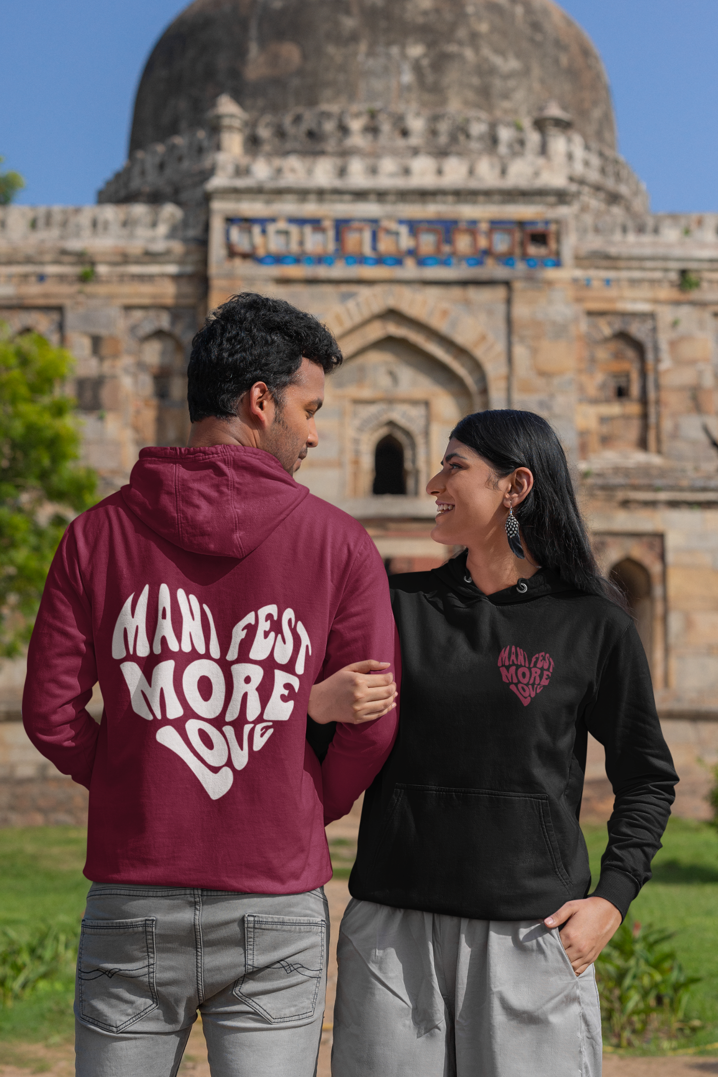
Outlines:
<svg viewBox="0 0 718 1077"><path fill-rule="evenodd" d="M61 382L73 360L37 333L0 323L0 655L30 639L45 577L69 520L95 503L80 467L75 401Z"/></svg>

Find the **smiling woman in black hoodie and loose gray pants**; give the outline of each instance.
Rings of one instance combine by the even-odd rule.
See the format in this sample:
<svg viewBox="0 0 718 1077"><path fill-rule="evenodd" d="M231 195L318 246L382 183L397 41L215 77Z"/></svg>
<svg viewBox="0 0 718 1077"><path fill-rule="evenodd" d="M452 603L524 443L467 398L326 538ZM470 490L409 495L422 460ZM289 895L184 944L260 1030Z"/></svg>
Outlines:
<svg viewBox="0 0 718 1077"><path fill-rule="evenodd" d="M432 537L466 553L390 582L400 728L364 800L333 1074L597 1077L592 963L677 781L646 656L544 419L468 416L426 489ZM588 732L616 794L590 897Z"/></svg>

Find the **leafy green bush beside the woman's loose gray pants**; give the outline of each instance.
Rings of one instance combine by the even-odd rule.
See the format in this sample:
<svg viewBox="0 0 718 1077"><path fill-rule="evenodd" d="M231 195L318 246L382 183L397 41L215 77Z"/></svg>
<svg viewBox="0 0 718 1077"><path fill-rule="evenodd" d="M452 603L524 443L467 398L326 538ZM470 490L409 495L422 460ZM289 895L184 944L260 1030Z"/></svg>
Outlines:
<svg viewBox="0 0 718 1077"><path fill-rule="evenodd" d="M627 918L596 961L601 1016L617 1047L676 1039L690 1027L684 1022L688 991L701 978L687 976L666 946L673 935Z"/></svg>

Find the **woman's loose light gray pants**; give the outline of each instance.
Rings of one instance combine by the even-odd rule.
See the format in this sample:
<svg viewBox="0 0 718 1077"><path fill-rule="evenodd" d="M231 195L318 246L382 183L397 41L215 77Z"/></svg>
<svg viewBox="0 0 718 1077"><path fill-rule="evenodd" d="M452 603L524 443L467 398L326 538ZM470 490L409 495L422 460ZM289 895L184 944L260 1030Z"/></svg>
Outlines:
<svg viewBox="0 0 718 1077"><path fill-rule="evenodd" d="M593 966L541 923L352 899L337 956L333 1077L601 1077Z"/></svg>

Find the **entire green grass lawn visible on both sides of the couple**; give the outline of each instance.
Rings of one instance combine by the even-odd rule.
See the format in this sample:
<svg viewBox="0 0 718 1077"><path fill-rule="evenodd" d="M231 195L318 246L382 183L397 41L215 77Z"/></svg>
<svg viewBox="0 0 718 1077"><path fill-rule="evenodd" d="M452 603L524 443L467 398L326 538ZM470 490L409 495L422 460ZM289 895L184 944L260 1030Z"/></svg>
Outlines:
<svg viewBox="0 0 718 1077"><path fill-rule="evenodd" d="M606 844L605 826L585 827L594 880ZM335 876L349 877L355 844L330 843ZM0 829L0 924L30 931L59 922L80 929L89 883L82 875L85 831L73 827ZM703 977L687 1017L704 1022L691 1043L718 1041L718 833L705 823L672 819L653 880L631 907L634 919L676 932L673 945L688 973ZM0 1008L0 1040L52 1043L72 1035L72 982L45 985Z"/></svg>

